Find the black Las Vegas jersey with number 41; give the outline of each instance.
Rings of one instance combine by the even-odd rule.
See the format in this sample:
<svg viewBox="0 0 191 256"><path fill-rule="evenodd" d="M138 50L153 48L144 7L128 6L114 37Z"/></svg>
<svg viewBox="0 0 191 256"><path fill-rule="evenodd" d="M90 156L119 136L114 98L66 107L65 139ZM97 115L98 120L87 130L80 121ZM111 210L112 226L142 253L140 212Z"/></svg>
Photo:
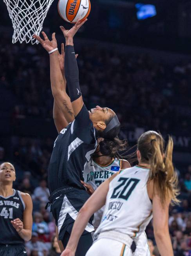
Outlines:
<svg viewBox="0 0 191 256"><path fill-rule="evenodd" d="M11 220L19 218L23 221L23 211L25 203L21 192L13 190L12 196L4 197L0 195L0 244L22 244L24 240L19 236L13 227Z"/></svg>

